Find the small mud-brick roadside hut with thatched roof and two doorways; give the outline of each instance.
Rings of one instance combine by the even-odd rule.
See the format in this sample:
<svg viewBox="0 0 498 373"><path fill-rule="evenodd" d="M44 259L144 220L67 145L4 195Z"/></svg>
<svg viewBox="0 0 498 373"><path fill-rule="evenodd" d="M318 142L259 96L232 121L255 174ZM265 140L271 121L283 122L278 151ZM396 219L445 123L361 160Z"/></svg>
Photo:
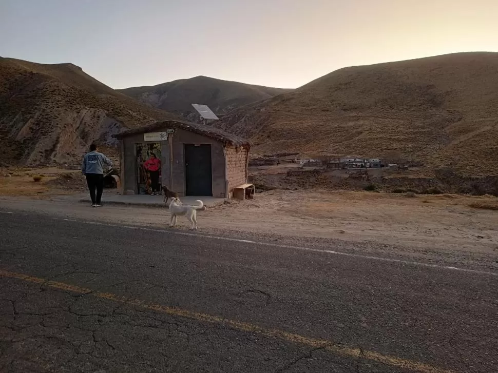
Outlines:
<svg viewBox="0 0 498 373"><path fill-rule="evenodd" d="M217 128L162 121L114 135L119 140L122 194L146 194L144 163L161 162L159 182L181 196L232 198L247 183L250 142Z"/></svg>

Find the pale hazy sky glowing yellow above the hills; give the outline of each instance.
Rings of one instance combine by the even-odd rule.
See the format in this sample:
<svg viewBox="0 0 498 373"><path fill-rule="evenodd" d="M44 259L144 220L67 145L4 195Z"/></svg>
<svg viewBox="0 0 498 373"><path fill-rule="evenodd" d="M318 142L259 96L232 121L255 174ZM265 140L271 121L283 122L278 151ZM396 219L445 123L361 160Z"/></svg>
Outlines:
<svg viewBox="0 0 498 373"><path fill-rule="evenodd" d="M112 88L196 75L295 88L341 67L498 51L498 0L0 0L0 56Z"/></svg>

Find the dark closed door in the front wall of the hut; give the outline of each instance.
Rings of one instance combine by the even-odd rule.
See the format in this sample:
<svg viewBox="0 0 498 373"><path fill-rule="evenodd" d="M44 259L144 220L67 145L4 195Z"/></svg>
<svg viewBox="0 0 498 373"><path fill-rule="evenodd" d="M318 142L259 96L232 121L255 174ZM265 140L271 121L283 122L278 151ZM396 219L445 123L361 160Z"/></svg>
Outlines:
<svg viewBox="0 0 498 373"><path fill-rule="evenodd" d="M213 195L211 145L185 144L185 195Z"/></svg>

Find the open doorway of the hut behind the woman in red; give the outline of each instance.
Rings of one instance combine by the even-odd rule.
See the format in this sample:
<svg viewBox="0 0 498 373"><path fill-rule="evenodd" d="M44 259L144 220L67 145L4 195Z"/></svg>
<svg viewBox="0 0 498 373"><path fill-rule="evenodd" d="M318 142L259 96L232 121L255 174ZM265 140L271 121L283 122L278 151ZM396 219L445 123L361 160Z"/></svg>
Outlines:
<svg viewBox="0 0 498 373"><path fill-rule="evenodd" d="M138 143L136 148L138 194L152 194L153 188L161 193L161 143ZM154 158L159 161L157 171L156 167L146 167Z"/></svg>

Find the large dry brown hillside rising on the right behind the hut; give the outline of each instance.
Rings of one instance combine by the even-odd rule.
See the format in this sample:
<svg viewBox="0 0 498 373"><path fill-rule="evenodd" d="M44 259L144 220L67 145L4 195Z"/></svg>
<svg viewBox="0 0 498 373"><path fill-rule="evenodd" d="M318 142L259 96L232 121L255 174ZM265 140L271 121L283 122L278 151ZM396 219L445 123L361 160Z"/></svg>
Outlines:
<svg viewBox="0 0 498 373"><path fill-rule="evenodd" d="M467 175L498 174L498 53L456 53L334 71L216 124L253 152L399 153Z"/></svg>

